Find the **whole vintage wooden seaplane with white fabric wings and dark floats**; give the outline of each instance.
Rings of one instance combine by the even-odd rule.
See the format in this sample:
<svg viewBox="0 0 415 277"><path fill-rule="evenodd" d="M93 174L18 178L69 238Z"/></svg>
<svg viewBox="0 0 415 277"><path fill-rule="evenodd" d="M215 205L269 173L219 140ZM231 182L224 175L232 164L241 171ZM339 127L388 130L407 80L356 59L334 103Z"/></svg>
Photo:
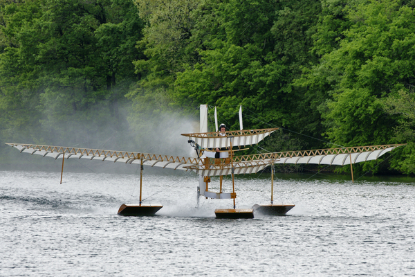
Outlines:
<svg viewBox="0 0 415 277"><path fill-rule="evenodd" d="M97 150L89 148L72 148L53 145L33 145L24 143L6 143L21 153L37 154L55 160L62 159L62 175L65 159L89 159L94 161L111 161L113 163L127 163L140 166L140 199L138 204L122 204L118 215L149 216L163 208L162 205L142 203L142 172L145 166L165 168L170 170L185 170L196 172L199 175L197 186L197 203L200 197L209 199L228 199L233 202L233 208L216 208L216 218L253 218L254 214L286 215L295 207L295 204L275 204L274 171L275 164L318 164L351 166L353 180L353 164L376 160L383 154L405 144L371 145L344 148L327 148L320 150L301 150L288 152L268 152L261 154L237 155L237 152L246 150L250 146L266 139L277 127L268 129L243 129L242 106L239 107L239 130L226 130L218 127L216 107L214 109L216 132L208 132L208 105L200 106L200 132L181 134L187 138L187 143L194 148L196 157L176 157L163 154L141 152ZM271 169L270 202L254 204L252 208L237 208L237 190L235 189L235 175L255 174L265 168ZM223 177L231 175L232 192L223 190ZM210 190L211 177L219 177L219 191ZM212 186L211 186L212 187ZM212 189L212 188L211 188ZM226 201L226 200L225 200Z"/></svg>

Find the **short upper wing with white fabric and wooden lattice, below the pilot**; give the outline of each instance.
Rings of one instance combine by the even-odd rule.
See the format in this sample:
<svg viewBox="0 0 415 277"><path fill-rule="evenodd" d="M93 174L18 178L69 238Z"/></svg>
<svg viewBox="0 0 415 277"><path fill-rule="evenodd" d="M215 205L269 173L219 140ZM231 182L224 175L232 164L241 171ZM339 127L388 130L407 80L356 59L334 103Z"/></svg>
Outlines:
<svg viewBox="0 0 415 277"><path fill-rule="evenodd" d="M253 145L259 143L259 141L262 141L277 129L279 128L228 131L223 133L223 136L218 132L181 135L195 141L201 148L228 148L230 147L231 139L232 146Z"/></svg>

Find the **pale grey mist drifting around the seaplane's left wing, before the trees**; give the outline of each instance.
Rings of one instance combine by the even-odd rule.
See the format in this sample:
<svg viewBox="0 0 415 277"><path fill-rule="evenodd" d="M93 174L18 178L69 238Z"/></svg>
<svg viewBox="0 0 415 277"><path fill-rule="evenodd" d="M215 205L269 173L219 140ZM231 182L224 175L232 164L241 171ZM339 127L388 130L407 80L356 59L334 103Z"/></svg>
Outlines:
<svg viewBox="0 0 415 277"><path fill-rule="evenodd" d="M196 152L187 143L187 137L181 134L199 131L199 112L194 118L175 111L154 116L134 112L128 100L120 100L117 104L116 113L111 111L109 101L106 100L82 111L73 111L67 107L60 109L59 105L54 105L44 109L39 125L24 126L13 132L12 136L3 136L6 140L3 142L196 157ZM35 156L37 155L20 154L2 144L1 169L55 171L60 167L53 159ZM65 161L65 170L82 171L82 168L88 166L93 170L107 171L114 168L120 172L126 167L119 166L118 163L116 165L95 161L86 161L85 165L76 166L80 161L71 160Z"/></svg>

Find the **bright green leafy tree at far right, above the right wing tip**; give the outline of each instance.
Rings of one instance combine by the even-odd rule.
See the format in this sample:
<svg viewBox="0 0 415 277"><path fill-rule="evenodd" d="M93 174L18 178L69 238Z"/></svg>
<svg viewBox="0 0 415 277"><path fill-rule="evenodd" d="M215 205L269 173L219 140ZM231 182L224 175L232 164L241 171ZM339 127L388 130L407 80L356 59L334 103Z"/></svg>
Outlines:
<svg viewBox="0 0 415 277"><path fill-rule="evenodd" d="M308 84L328 93L320 111L331 141L340 145L387 143L396 118L385 116L376 99L414 82L409 46L415 27L412 8L396 1L373 1L344 10L351 25L342 31L338 48L324 54L308 73ZM326 51L324 47L320 53Z"/></svg>

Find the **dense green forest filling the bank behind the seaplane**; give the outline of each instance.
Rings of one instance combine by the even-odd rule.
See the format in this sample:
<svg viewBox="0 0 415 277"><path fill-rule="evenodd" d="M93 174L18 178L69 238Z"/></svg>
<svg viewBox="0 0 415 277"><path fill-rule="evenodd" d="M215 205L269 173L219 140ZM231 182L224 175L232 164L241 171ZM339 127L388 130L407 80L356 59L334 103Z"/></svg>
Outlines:
<svg viewBox="0 0 415 277"><path fill-rule="evenodd" d="M208 104L230 129L239 105L244 129L280 127L255 151L407 143L356 170L414 175L414 8L0 0L0 165L5 142L162 150Z"/></svg>

